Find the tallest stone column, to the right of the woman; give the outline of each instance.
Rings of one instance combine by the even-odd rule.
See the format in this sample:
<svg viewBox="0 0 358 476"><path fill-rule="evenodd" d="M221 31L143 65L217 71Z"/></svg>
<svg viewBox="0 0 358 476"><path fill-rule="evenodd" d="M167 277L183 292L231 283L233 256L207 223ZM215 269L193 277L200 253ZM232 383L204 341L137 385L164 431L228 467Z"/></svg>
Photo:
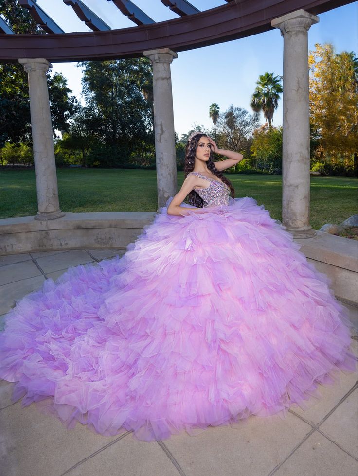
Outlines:
<svg viewBox="0 0 358 476"><path fill-rule="evenodd" d="M309 84L308 38L319 18L297 10L271 25L284 37L282 219L295 238L316 232L309 224Z"/></svg>

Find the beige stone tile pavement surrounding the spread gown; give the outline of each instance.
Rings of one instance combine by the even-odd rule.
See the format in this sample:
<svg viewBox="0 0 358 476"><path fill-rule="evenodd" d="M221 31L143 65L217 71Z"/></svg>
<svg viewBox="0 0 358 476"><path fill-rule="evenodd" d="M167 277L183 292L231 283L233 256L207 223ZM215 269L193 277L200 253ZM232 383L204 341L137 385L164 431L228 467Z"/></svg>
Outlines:
<svg viewBox="0 0 358 476"><path fill-rule="evenodd" d="M56 279L69 266L110 258L124 250L71 250L0 257L0 327L15 301ZM354 309L351 309L354 312ZM353 319L352 319L353 320ZM352 341L357 352L357 341ZM1 476L356 476L357 375L340 373L321 387L309 409L292 407L286 419L250 417L233 427L146 443L130 432L67 430L36 405L12 403L13 384L0 381Z"/></svg>

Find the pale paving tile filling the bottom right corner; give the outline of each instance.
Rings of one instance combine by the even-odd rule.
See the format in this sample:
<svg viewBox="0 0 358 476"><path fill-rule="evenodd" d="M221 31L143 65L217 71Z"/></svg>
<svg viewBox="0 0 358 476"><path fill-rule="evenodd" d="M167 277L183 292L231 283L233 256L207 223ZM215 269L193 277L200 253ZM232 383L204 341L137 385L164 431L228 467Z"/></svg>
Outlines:
<svg viewBox="0 0 358 476"><path fill-rule="evenodd" d="M357 461L315 431L274 476L357 476Z"/></svg>

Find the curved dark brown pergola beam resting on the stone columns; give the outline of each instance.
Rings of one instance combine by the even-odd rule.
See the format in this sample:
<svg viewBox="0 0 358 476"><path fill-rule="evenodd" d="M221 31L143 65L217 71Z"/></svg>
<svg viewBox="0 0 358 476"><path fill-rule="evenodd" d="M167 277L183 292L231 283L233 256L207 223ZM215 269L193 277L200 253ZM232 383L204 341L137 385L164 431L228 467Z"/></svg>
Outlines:
<svg viewBox="0 0 358 476"><path fill-rule="evenodd" d="M0 35L0 61L46 58L87 61L142 56L145 50L175 52L231 41L272 29L271 21L303 9L317 15L354 0L235 0L158 23L109 31L46 35Z"/></svg>

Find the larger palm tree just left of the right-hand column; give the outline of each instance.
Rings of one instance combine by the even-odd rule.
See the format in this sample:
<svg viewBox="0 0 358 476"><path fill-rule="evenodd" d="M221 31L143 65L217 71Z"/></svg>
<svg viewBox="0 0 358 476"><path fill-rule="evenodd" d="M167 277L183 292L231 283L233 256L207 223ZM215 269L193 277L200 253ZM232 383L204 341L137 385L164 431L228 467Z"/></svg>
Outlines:
<svg viewBox="0 0 358 476"><path fill-rule="evenodd" d="M273 73L260 74L256 81L256 89L251 96L250 106L255 112L263 112L269 127L272 127L273 113L278 107L278 100L283 89L281 76L273 76Z"/></svg>

